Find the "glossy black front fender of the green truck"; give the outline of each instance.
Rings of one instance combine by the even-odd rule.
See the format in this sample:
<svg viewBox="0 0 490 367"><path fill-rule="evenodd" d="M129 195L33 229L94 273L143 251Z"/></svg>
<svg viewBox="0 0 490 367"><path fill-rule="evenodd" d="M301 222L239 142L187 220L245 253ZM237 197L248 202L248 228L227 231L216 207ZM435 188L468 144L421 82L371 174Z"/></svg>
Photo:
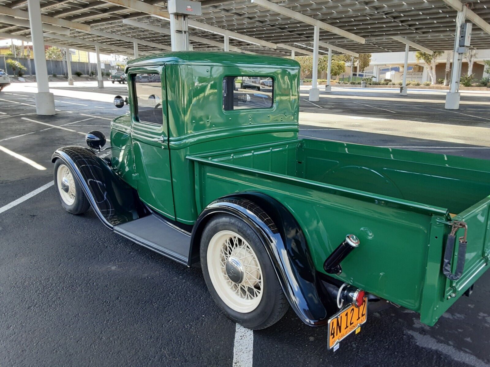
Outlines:
<svg viewBox="0 0 490 367"><path fill-rule="evenodd" d="M74 172L90 205L107 227L139 217L134 190L90 149L66 146L53 153L51 161L62 160Z"/></svg>

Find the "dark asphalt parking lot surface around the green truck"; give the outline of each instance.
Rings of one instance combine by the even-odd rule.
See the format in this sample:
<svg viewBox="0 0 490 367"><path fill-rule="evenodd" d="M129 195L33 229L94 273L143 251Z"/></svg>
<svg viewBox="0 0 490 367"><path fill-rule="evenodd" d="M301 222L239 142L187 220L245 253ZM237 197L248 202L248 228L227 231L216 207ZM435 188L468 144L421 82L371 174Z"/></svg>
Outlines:
<svg viewBox="0 0 490 367"><path fill-rule="evenodd" d="M244 366L255 367L490 366L488 272L434 327L391 307L369 315L334 353L325 328L290 310L243 346L198 265L112 233L93 212L62 209L49 186L53 151L84 146L90 130L109 137L110 120L125 111L112 98L127 87L51 88L55 116L35 114L29 86L0 93L0 366L231 367L240 348ZM443 92L409 93L334 88L312 103L303 87L300 135L490 159L489 94L465 93L460 110L446 111Z"/></svg>

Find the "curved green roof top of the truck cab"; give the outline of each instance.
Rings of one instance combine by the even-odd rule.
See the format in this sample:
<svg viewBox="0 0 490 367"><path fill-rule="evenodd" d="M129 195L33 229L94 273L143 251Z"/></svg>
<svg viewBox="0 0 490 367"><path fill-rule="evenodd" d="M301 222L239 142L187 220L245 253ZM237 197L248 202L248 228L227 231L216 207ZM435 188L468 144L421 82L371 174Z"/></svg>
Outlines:
<svg viewBox="0 0 490 367"><path fill-rule="evenodd" d="M277 68L297 68L299 63L284 57L264 56L241 52L209 52L209 51L173 51L162 52L137 59L127 63L126 68L147 65L168 64L199 64L221 66L259 66Z"/></svg>

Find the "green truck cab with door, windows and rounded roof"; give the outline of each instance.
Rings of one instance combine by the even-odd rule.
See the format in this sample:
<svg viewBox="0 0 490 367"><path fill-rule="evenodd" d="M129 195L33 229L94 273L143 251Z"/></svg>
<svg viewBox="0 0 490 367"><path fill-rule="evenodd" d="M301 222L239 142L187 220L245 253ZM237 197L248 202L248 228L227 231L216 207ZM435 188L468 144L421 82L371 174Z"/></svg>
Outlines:
<svg viewBox="0 0 490 367"><path fill-rule="evenodd" d="M130 61L125 72L129 114L111 123L112 167L169 219L192 225L199 214L188 155L297 137L294 60L174 52Z"/></svg>

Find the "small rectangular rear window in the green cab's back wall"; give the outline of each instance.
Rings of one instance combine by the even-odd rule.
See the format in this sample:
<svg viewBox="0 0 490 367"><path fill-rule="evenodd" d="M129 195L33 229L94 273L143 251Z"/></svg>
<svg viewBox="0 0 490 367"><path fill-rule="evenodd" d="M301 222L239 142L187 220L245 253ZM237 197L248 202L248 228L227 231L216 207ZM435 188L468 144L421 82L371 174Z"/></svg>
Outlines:
<svg viewBox="0 0 490 367"><path fill-rule="evenodd" d="M271 108L274 80L268 76L225 76L222 90L224 111Z"/></svg>

